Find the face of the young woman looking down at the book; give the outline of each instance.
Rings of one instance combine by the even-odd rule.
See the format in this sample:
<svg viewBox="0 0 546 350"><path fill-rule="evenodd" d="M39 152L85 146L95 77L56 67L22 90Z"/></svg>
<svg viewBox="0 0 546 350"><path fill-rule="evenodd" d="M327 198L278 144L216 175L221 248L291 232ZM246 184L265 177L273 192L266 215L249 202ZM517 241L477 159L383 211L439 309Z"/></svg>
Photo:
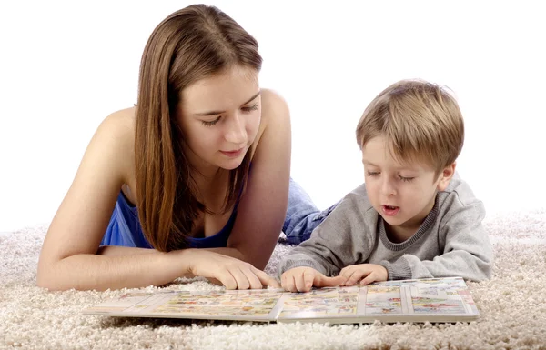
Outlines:
<svg viewBox="0 0 546 350"><path fill-rule="evenodd" d="M235 169L254 142L261 120L258 72L232 67L187 86L177 121L197 169Z"/></svg>

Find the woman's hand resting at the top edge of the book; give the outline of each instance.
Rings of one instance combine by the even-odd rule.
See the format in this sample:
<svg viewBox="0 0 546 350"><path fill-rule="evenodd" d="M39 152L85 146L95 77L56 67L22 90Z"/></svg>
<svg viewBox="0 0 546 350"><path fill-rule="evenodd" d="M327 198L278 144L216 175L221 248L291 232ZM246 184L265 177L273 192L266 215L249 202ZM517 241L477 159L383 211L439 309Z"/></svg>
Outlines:
<svg viewBox="0 0 546 350"><path fill-rule="evenodd" d="M186 249L190 253L188 273L219 281L227 289L279 288L277 280L251 264L205 249Z"/></svg>

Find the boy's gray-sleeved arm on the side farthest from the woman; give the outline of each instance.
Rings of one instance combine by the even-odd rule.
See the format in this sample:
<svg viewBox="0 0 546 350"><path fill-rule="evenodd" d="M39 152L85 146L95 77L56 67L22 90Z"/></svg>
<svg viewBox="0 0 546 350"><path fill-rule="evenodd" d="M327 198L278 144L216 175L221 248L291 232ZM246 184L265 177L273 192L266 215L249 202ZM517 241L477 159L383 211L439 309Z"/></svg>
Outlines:
<svg viewBox="0 0 546 350"><path fill-rule="evenodd" d="M383 261L389 279L461 276L481 281L492 275L493 252L489 236L481 225L485 209L481 202L458 208L440 226L445 239L443 254L432 260L403 255L396 262Z"/></svg>

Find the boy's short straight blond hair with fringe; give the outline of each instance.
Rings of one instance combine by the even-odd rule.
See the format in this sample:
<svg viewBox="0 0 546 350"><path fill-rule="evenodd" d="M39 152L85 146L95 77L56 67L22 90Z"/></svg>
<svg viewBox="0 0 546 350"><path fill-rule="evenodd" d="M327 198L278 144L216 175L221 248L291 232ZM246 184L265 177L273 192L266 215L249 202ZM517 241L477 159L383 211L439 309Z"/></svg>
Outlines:
<svg viewBox="0 0 546 350"><path fill-rule="evenodd" d="M440 174L460 154L464 123L457 101L446 89L422 80L402 80L383 90L360 117L360 148L379 135L399 163L424 163Z"/></svg>

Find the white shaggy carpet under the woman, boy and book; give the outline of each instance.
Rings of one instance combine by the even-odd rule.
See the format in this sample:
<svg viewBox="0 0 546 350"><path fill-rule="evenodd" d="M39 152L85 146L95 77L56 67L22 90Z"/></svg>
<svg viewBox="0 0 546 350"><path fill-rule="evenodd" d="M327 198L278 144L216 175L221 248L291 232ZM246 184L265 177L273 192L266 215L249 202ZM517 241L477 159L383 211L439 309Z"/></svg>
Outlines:
<svg viewBox="0 0 546 350"><path fill-rule="evenodd" d="M116 318L80 311L127 290L50 293L35 286L46 226L0 235L0 349L546 349L546 212L488 216L494 277L469 283L470 324L252 324ZM273 275L278 245L267 271ZM200 279L167 289L221 288ZM145 289L153 289L148 287Z"/></svg>

